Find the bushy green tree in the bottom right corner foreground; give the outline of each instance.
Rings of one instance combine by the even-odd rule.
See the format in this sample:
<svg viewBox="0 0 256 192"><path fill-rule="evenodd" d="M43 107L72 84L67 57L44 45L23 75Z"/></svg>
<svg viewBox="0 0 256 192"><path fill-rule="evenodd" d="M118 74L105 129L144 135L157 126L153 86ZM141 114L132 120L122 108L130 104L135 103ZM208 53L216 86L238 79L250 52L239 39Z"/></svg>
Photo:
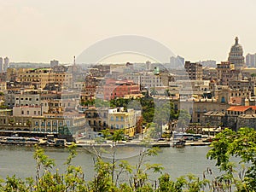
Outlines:
<svg viewBox="0 0 256 192"><path fill-rule="evenodd" d="M239 157L236 159L239 160L238 164L231 161L232 157ZM212 143L212 149L207 154L207 158L216 160L216 166L224 172L222 176L217 177L217 181L225 181L227 188L233 185L238 191L256 190L255 157L256 131L250 128L241 128L237 132L225 129L218 133L216 141ZM237 173L236 170L240 171Z"/></svg>

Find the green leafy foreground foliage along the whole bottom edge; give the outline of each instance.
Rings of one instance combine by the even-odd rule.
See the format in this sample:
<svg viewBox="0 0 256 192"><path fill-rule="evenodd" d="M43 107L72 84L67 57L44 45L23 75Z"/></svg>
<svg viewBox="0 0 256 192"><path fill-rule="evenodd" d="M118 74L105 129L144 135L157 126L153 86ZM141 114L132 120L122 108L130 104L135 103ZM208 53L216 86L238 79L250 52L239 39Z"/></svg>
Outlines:
<svg viewBox="0 0 256 192"><path fill-rule="evenodd" d="M162 173L163 167L159 164L150 164L148 159L157 155L159 148L144 148L138 155L137 165L132 166L126 160L116 160L115 146L113 145L113 160L104 161L102 155L96 151L95 176L90 181L85 181L84 172L80 166L73 166L72 160L76 156L76 147L71 145L69 156L65 166L65 172L54 171L54 160L44 154L43 148L35 147L34 159L36 160L36 177L20 179L19 177L7 177L0 180L0 191L152 191L152 192L199 192L199 191L255 191L256 177L256 131L249 128L241 128L239 131L228 129L217 135L217 140L212 143L212 148L207 158L216 160L216 166L222 171L222 175L214 177L212 170L207 169L203 178L189 174L177 177L173 180L168 173L162 174L159 178L151 180L154 173ZM109 136L106 131L103 135L111 139L113 143L122 139L123 132ZM239 157L236 172L235 163L231 162L232 157ZM237 160L237 159L236 159ZM206 173L211 179L206 178ZM125 175L126 180L121 180Z"/></svg>

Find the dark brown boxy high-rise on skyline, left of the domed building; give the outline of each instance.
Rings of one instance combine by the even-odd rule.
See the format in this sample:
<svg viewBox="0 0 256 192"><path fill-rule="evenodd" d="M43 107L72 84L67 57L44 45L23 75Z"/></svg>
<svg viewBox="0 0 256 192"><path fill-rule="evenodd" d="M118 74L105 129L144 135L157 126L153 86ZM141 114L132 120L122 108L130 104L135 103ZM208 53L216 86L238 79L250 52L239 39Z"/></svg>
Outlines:
<svg viewBox="0 0 256 192"><path fill-rule="evenodd" d="M185 70L190 80L202 80L202 65L200 63L185 62Z"/></svg>

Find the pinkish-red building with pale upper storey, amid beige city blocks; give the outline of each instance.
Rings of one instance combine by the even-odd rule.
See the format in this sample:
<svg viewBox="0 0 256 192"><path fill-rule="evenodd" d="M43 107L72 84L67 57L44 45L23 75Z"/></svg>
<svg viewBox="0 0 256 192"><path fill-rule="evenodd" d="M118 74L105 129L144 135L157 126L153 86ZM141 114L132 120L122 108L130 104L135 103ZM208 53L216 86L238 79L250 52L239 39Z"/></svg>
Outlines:
<svg viewBox="0 0 256 192"><path fill-rule="evenodd" d="M140 93L140 86L131 80L106 79L103 86L105 100L135 95Z"/></svg>

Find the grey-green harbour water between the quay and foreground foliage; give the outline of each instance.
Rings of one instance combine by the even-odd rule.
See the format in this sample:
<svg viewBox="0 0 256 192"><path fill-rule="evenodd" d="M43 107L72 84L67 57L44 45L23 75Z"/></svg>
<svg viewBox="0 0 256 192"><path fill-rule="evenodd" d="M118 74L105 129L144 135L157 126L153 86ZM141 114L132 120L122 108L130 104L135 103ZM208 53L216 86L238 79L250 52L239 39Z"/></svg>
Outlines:
<svg viewBox="0 0 256 192"><path fill-rule="evenodd" d="M107 148L110 152L112 148ZM143 148L119 147L117 158L128 160L132 165L137 163L138 154ZM214 162L207 160L206 154L210 149L208 146L187 146L185 148L161 148L159 155L148 159L149 163L159 163L164 166L164 172L168 172L172 178L188 173L194 173L202 177L207 167L214 167ZM67 160L67 148L44 148L45 154L55 159L56 168L61 172L65 170L63 164ZM81 166L86 179L93 177L93 155L86 148L78 148L78 155L73 160L73 165ZM0 145L0 177L16 175L17 177L31 177L35 175L35 160L33 159L34 148L26 146L3 146ZM104 157L111 157L111 154L103 154Z"/></svg>

